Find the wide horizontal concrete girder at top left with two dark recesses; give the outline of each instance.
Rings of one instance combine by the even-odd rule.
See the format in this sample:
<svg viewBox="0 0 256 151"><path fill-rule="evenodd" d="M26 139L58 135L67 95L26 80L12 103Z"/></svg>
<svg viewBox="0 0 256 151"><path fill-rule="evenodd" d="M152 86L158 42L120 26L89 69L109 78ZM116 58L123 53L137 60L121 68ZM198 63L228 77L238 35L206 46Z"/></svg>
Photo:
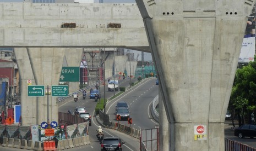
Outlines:
<svg viewBox="0 0 256 151"><path fill-rule="evenodd" d="M150 52L134 3L0 3L0 13L2 47L112 46ZM63 28L64 24L75 28Z"/></svg>

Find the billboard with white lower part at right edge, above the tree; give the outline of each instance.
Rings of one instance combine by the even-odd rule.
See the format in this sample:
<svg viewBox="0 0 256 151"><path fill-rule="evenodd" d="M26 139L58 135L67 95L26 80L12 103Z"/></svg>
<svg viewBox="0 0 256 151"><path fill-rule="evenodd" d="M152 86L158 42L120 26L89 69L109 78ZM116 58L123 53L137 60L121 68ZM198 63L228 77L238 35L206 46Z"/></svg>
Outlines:
<svg viewBox="0 0 256 151"><path fill-rule="evenodd" d="M246 32L244 34L241 52L238 62L245 63L254 61L255 55L255 7L252 14L248 16Z"/></svg>

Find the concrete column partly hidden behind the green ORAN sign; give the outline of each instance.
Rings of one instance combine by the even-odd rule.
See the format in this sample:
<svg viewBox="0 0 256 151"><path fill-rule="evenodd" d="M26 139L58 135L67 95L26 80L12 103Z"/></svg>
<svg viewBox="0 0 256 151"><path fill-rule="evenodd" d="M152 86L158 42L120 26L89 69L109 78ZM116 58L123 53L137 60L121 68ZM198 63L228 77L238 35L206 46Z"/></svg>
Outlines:
<svg viewBox="0 0 256 151"><path fill-rule="evenodd" d="M68 67L80 67L83 58L83 48L66 48L66 61ZM69 93L73 93L79 89L80 82L69 82Z"/></svg>

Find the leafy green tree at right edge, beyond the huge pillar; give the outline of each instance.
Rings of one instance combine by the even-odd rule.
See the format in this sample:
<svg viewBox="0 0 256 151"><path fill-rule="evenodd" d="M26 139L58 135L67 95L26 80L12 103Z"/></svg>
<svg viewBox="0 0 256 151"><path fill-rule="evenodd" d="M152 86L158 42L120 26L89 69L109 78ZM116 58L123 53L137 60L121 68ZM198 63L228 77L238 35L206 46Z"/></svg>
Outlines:
<svg viewBox="0 0 256 151"><path fill-rule="evenodd" d="M254 56L254 60L256 57ZM256 110L256 62L237 69L231 91L229 108L238 116L239 126L250 121L250 114ZM234 112L233 112L234 113Z"/></svg>

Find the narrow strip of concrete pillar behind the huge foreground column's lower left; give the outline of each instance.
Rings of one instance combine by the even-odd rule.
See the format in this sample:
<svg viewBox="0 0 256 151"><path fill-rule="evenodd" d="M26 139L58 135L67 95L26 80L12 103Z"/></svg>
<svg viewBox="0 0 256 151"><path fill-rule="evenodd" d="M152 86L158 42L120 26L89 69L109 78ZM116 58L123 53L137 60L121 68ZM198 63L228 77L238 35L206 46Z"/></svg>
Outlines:
<svg viewBox="0 0 256 151"><path fill-rule="evenodd" d="M160 92L161 90L159 90ZM161 93L158 97L159 100L159 150L169 150L169 123L165 112L164 100Z"/></svg>

